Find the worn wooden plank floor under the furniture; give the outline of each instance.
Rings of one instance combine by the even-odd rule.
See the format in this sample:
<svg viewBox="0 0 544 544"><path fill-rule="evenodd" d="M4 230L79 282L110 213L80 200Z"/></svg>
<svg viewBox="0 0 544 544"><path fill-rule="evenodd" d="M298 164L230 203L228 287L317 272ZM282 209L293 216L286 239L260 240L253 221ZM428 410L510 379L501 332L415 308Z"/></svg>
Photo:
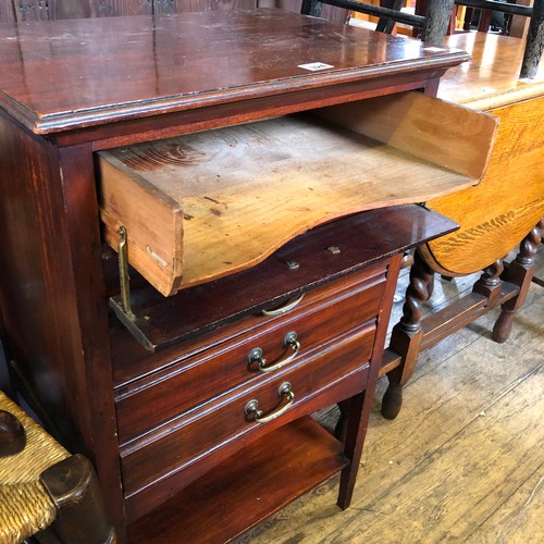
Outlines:
<svg viewBox="0 0 544 544"><path fill-rule="evenodd" d="M432 304L473 279L438 282ZM395 421L376 400L349 509L333 479L239 543L544 542L544 288L532 284L502 345L497 314L420 355Z"/></svg>

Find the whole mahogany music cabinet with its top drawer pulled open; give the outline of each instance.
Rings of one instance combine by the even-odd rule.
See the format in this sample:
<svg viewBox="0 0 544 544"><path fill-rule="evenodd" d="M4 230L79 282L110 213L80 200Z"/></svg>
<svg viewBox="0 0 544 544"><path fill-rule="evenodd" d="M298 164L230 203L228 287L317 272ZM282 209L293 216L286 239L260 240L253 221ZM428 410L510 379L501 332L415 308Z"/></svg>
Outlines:
<svg viewBox="0 0 544 544"><path fill-rule="evenodd" d="M2 341L120 539L227 540L341 470L346 507L401 255L456 226L411 202L493 139L430 98L466 53L275 10L0 42Z"/></svg>

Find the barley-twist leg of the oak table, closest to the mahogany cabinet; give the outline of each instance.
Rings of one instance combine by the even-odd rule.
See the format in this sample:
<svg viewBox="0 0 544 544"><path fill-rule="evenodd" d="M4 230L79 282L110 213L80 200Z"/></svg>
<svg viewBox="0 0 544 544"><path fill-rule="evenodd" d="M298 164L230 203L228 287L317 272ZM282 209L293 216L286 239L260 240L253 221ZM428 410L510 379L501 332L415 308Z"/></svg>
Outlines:
<svg viewBox="0 0 544 544"><path fill-rule="evenodd" d="M395 419L403 406L403 387L412 376L423 337L421 318L423 304L433 290L434 272L416 251L410 268L410 283L406 289L403 317L393 327L390 348L403 357L400 366L387 372L390 385L382 399L382 415Z"/></svg>

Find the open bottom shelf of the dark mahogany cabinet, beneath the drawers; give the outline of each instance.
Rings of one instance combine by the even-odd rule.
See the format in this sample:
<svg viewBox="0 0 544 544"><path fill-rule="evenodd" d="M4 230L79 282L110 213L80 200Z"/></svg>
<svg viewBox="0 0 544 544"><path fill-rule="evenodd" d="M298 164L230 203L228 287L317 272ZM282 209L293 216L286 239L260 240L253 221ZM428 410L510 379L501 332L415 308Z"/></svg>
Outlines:
<svg viewBox="0 0 544 544"><path fill-rule="evenodd" d="M227 542L346 467L343 449L311 418L296 420L131 524L128 541Z"/></svg>

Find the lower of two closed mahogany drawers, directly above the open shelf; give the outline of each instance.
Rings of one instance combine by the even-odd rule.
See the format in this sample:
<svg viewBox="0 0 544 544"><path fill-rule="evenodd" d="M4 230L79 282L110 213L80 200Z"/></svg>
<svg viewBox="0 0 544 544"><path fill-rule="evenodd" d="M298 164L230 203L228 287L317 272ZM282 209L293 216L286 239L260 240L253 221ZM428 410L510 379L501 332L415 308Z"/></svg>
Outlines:
<svg viewBox="0 0 544 544"><path fill-rule="evenodd" d="M281 424L293 417L300 417L305 403L342 380L349 380L354 372L363 371L366 379L374 335L375 326L372 324L356 334L334 338L323 345L313 359L264 383L240 385L157 429L152 435L122 447L125 495L137 494L153 482L154 485L170 485L168 480L163 481L166 475L190 466L207 452L223 447L240 436L262 432L267 423L258 423L255 415L245 413L245 407L254 399L258 400L264 418L282 410L274 420ZM289 383L294 393L290 403L286 396L279 395L285 383ZM363 384L358 383L357 387L361 391Z"/></svg>

